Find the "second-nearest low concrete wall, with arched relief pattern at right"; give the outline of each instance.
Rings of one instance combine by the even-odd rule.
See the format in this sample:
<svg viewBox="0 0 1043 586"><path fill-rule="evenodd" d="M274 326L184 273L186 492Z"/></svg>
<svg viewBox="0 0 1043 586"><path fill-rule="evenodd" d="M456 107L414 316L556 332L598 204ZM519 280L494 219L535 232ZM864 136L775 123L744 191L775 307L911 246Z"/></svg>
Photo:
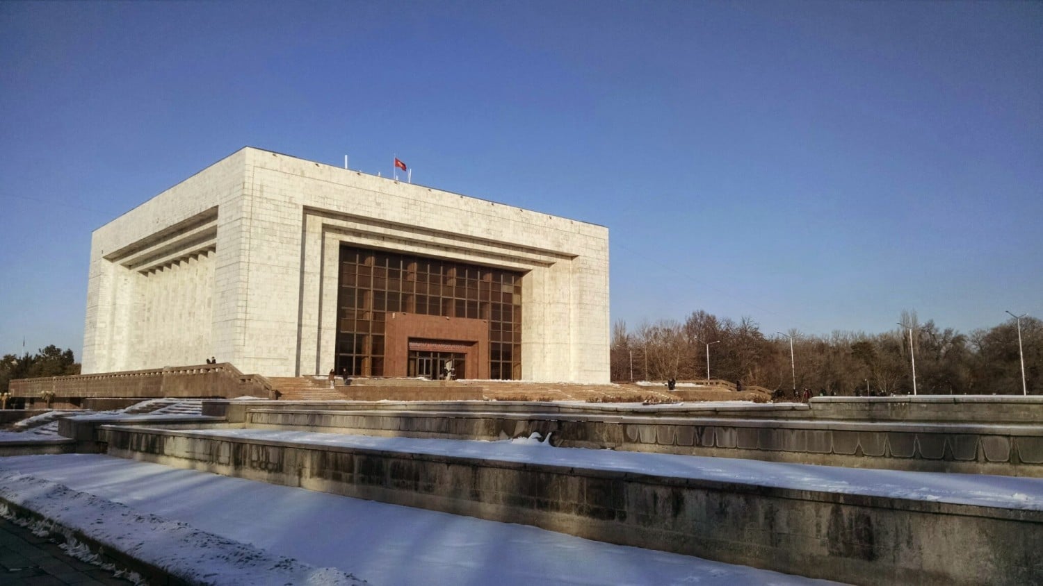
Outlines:
<svg viewBox="0 0 1043 586"><path fill-rule="evenodd" d="M247 427L502 439L804 464L1043 478L1043 426L883 424L565 413L320 411L252 407Z"/></svg>

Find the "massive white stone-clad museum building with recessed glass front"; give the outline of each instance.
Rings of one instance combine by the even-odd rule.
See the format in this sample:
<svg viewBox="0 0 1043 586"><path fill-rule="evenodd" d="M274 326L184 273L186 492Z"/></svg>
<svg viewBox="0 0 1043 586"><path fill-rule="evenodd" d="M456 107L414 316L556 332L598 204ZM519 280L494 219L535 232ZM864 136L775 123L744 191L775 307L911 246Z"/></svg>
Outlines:
<svg viewBox="0 0 1043 586"><path fill-rule="evenodd" d="M244 148L96 230L84 374L608 382L608 229Z"/></svg>

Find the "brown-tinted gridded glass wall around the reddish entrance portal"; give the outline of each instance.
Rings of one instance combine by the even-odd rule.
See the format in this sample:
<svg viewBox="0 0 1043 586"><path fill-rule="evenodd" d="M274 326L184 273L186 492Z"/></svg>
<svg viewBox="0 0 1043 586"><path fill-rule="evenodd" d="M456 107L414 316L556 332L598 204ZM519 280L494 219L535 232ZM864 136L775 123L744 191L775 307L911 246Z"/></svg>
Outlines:
<svg viewBox="0 0 1043 586"><path fill-rule="evenodd" d="M385 323L396 311L488 321L489 377L522 378L520 273L342 246L338 374L396 375L384 372Z"/></svg>

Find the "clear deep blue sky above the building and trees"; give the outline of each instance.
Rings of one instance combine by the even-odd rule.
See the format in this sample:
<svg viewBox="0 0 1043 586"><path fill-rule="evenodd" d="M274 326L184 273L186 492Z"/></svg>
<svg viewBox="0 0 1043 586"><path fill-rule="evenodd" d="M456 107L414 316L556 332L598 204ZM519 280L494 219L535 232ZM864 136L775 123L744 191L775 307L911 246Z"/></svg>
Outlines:
<svg viewBox="0 0 1043 586"><path fill-rule="evenodd" d="M607 226L631 328L1043 317L1040 2L0 2L0 354L246 145Z"/></svg>

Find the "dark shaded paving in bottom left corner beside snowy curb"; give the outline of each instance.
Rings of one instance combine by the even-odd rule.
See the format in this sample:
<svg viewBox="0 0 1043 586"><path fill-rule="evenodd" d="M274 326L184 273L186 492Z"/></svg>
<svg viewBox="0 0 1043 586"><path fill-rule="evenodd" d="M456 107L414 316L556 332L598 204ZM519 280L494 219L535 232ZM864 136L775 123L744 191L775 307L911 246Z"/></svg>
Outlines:
<svg viewBox="0 0 1043 586"><path fill-rule="evenodd" d="M134 584L69 556L49 537L0 517L0 584L6 586L117 586Z"/></svg>

